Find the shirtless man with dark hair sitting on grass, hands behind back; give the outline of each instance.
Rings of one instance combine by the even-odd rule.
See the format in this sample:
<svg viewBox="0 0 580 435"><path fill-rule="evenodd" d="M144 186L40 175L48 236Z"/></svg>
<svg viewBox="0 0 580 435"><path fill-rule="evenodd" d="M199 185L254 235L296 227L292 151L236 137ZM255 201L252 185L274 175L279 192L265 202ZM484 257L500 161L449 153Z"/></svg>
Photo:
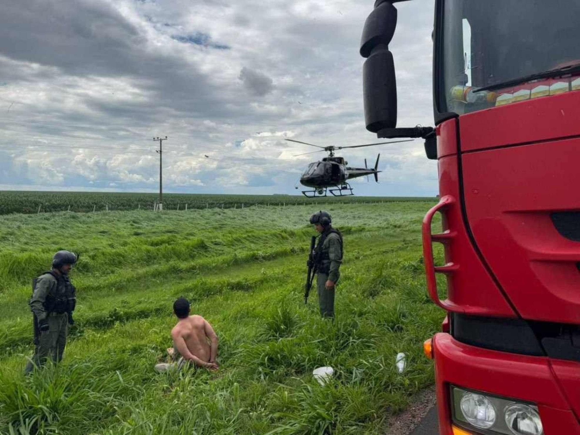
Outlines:
<svg viewBox="0 0 580 435"><path fill-rule="evenodd" d="M179 318L177 325L171 330L173 345L179 353L179 361L155 365L155 370L164 372L168 369L182 369L187 362L197 367L205 367L216 371L218 356L218 336L211 325L201 316L190 316L189 301L179 298L173 303L173 313ZM168 349L172 354L172 349Z"/></svg>

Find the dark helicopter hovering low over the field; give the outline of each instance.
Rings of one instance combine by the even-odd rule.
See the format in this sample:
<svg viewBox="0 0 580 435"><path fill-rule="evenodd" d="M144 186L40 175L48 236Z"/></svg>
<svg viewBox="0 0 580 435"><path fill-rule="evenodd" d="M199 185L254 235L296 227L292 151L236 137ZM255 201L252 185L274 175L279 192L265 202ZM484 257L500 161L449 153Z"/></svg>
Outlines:
<svg viewBox="0 0 580 435"><path fill-rule="evenodd" d="M367 143L364 145L352 145L347 147L337 147L337 146L327 146L321 147L320 145L314 145L312 143L301 142L300 140L286 139L289 142L302 143L305 145L310 145L313 147L321 148L318 151L312 151L311 153L296 154L293 157L298 157L299 155L320 153L326 151L328 157L322 158L322 160L317 162L312 162L308 165L308 168L302 176L300 176L300 184L306 187L312 187L313 190L303 190L302 194L307 198L325 197L327 193L330 192L335 197L351 196L354 195L353 188L346 180L351 178L362 177L374 175L375 181L379 182L379 158L380 154L376 157L376 162L374 168L367 167L367 159L364 160L364 168L349 168L347 166L349 162L345 161L344 158L335 156L336 150L342 150L343 148L360 148L360 147L370 147L374 145L383 145L389 143L399 143L399 142L410 142L412 139L407 140L396 140L391 142L379 142L379 143ZM298 186L295 186L298 189Z"/></svg>

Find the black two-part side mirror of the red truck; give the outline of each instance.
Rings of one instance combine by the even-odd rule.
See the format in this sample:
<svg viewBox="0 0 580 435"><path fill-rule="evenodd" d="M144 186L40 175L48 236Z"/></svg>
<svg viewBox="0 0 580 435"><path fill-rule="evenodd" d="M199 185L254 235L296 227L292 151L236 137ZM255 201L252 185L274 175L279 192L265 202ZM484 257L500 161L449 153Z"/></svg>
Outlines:
<svg viewBox="0 0 580 435"><path fill-rule="evenodd" d="M361 56L368 58L362 68L365 124L373 133L397 126L397 83L389 51L396 27L393 0L377 0L365 21L360 48Z"/></svg>

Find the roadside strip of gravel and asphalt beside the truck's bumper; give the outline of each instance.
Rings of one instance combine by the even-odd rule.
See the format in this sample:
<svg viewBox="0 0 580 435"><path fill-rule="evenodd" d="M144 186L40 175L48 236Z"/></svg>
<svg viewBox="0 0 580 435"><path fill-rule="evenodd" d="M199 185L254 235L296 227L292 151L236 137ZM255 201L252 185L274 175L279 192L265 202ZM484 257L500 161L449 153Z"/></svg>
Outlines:
<svg viewBox="0 0 580 435"><path fill-rule="evenodd" d="M385 435L438 435L435 389L416 394L409 408L393 416L387 423Z"/></svg>

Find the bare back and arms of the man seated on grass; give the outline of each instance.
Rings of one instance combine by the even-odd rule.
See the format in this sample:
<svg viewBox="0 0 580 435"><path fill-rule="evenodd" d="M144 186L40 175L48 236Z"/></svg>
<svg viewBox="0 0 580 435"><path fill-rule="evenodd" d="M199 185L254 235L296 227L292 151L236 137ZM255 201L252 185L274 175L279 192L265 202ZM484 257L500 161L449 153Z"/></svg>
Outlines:
<svg viewBox="0 0 580 435"><path fill-rule="evenodd" d="M203 317L180 318L171 330L171 337L184 359L198 367L218 369L218 336Z"/></svg>

